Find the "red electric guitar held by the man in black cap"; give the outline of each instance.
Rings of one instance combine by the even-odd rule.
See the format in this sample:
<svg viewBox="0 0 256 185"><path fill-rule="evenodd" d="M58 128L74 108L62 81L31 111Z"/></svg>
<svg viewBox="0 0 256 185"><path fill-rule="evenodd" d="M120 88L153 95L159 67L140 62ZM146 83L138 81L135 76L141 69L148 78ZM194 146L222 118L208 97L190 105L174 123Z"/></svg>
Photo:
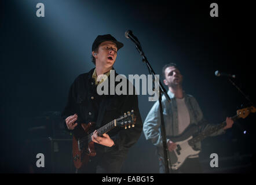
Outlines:
<svg viewBox="0 0 256 185"><path fill-rule="evenodd" d="M81 166L86 165L89 162L90 157L96 156L96 151L94 150L94 142L92 141L93 132L89 134L89 130L94 123L84 124L81 126L83 128L83 133L78 136L73 136L72 142L72 157L74 161L75 168L79 169ZM131 128L134 127L134 111L125 113L123 116L120 116L118 119L110 121L108 124L105 124L103 127L97 129L98 136L102 136L111 129L115 127L125 127Z"/></svg>

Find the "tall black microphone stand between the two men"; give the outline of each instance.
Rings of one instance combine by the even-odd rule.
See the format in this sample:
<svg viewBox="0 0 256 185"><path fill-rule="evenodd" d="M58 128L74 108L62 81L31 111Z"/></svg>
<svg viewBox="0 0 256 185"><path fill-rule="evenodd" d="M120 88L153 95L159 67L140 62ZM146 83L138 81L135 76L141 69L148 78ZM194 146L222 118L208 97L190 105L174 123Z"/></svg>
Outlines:
<svg viewBox="0 0 256 185"><path fill-rule="evenodd" d="M131 39L133 40L133 42L135 43L135 47L138 50L138 53L140 53L140 56L142 57L142 62L145 62L147 67L148 67L148 71L151 75L153 75L152 77L152 83L154 83L154 79L155 79L155 72L153 71L151 65L149 64L147 57L144 55L144 52L142 51L140 42L138 41L138 39ZM163 156L164 156L164 166L165 166L165 172L169 173L171 171L171 166L169 167L169 164L171 165L170 159L169 159L169 155L168 155L168 147L167 147L167 142L166 142L166 130L164 127L164 120L163 120L163 106L162 106L162 93L164 94L164 96L166 97L168 102L171 102L171 99L169 97L169 95L167 94L165 88L163 88L162 83L159 80L159 111L160 111L160 119L161 119L161 124L160 124L160 128L161 128L161 134L162 134L162 140L163 140ZM170 163L169 163L170 162ZM170 171L169 171L170 170Z"/></svg>

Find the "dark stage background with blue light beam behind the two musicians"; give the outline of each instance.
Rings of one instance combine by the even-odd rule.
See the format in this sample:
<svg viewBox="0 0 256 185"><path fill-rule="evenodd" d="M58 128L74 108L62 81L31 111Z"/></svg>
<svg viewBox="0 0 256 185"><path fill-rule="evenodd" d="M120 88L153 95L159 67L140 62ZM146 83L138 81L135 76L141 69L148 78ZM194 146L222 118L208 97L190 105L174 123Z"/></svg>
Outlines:
<svg viewBox="0 0 256 185"><path fill-rule="evenodd" d="M45 17L36 17L39 2L45 5ZM219 17L210 17L213 2ZM156 73L168 62L178 64L184 90L198 100L211 123L248 106L226 77L214 75L216 70L235 74L234 82L255 102L249 2L1 1L1 172L74 172L71 136L60 112L75 77L94 67L90 56L97 35L109 33L124 43L114 65L120 74L148 74L133 42L125 38L127 29L140 40ZM148 95L138 99L144 121L154 102ZM205 173L249 172L255 164L255 114L202 145ZM45 154L45 168L36 168L37 153ZM210 168L211 153L218 154L218 168ZM158 173L155 147L143 133L122 173Z"/></svg>

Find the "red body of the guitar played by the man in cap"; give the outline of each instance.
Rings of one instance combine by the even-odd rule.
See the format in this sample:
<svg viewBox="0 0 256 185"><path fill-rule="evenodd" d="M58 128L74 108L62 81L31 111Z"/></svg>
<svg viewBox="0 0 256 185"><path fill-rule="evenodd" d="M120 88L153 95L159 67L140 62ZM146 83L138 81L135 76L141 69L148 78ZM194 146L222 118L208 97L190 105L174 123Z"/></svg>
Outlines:
<svg viewBox="0 0 256 185"><path fill-rule="evenodd" d="M93 123L89 124L81 124L82 128L84 129L84 135L87 135L89 132L89 129L93 125ZM78 137L80 138L80 137ZM83 147L83 149L79 149L79 139L76 139L75 136L73 136L73 142L72 142L72 157L74 161L74 165L76 169L81 168L82 166L85 166L88 162L90 157L96 156L96 151L94 150L94 142L89 142L88 146Z"/></svg>

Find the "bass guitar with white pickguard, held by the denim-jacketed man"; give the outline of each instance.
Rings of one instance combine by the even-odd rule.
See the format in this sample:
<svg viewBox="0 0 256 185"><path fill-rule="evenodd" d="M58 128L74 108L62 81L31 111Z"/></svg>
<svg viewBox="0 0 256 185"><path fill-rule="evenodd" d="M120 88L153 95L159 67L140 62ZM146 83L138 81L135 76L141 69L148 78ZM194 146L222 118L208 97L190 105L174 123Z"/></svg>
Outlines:
<svg viewBox="0 0 256 185"><path fill-rule="evenodd" d="M256 109L254 106L239 109L236 111L236 116L232 117L232 120L235 121L240 118L246 118L248 114L255 113ZM169 152L169 157L171 161L171 169L178 169L184 163L186 158L189 156L194 156L200 152L199 149L196 149L195 143L203 140L207 136L210 136L214 132L218 131L221 128L226 126L226 121L221 124L216 125L213 128L207 129L206 131L193 136L192 133L195 133L198 129L197 125L189 126L181 135L169 138L172 142L177 144L175 150Z"/></svg>

